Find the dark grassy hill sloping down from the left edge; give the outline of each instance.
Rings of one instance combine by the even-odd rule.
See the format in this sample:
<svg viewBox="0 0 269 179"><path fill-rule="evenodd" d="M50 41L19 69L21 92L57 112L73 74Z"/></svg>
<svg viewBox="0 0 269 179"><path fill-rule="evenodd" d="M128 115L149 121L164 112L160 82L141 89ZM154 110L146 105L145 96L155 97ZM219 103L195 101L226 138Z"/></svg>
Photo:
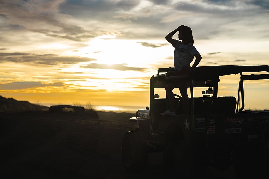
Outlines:
<svg viewBox="0 0 269 179"><path fill-rule="evenodd" d="M28 101L17 101L0 96L0 112L48 111L48 106L31 104Z"/></svg>

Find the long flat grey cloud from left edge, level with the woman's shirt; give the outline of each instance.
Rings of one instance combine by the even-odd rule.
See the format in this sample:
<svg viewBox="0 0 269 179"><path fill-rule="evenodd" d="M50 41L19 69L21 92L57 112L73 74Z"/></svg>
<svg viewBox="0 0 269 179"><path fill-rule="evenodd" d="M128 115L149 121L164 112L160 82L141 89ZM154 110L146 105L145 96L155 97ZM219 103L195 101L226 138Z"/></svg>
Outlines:
<svg viewBox="0 0 269 179"><path fill-rule="evenodd" d="M31 62L35 64L43 64L43 65L57 65L57 64L75 64L79 62L90 62L96 61L93 58L85 58L85 57L65 57L58 56L53 54L30 54L30 53L0 53L0 63L4 61L16 62L16 63L26 63Z"/></svg>

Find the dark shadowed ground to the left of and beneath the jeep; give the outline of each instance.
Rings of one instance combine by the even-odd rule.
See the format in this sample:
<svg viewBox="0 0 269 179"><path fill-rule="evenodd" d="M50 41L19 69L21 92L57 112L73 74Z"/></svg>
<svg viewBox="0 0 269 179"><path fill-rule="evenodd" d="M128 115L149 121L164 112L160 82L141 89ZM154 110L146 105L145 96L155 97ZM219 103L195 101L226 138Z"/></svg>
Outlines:
<svg viewBox="0 0 269 179"><path fill-rule="evenodd" d="M144 172L126 173L121 141L135 114L98 111L0 114L0 178L165 178L162 154L150 154ZM232 167L205 168L202 178L235 178Z"/></svg>

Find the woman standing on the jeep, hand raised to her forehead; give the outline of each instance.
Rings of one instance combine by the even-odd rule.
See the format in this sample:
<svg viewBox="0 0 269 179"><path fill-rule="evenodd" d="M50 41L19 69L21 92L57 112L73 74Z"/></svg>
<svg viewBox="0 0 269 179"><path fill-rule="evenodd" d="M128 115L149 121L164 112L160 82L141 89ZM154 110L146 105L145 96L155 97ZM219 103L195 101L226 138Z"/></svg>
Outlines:
<svg viewBox="0 0 269 179"><path fill-rule="evenodd" d="M179 40L172 39L173 35L179 31L178 38ZM165 39L175 47L174 50L174 76L178 75L187 75L191 70L193 70L201 61L202 57L200 53L193 46L193 37L192 37L192 29L181 25L168 35L166 35ZM190 67L190 63L193 61L195 57L195 62ZM165 112L161 113L161 115L175 115L175 96L173 93L173 89L179 85L179 91L183 100L183 114L189 114L189 96L188 96L188 81L181 80L178 82L169 82L166 87L166 96L169 101L169 109Z"/></svg>

